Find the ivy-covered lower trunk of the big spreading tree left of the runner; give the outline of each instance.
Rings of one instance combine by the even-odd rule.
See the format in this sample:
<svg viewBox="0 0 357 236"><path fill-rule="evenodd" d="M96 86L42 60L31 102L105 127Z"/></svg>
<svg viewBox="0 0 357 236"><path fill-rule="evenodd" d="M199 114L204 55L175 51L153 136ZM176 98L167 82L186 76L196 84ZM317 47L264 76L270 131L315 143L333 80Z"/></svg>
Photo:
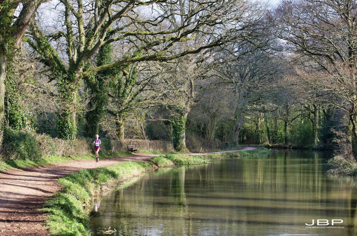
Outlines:
<svg viewBox="0 0 357 236"><path fill-rule="evenodd" d="M57 81L61 104L57 114L58 137L75 139L77 136L76 112L79 84L75 73Z"/></svg>

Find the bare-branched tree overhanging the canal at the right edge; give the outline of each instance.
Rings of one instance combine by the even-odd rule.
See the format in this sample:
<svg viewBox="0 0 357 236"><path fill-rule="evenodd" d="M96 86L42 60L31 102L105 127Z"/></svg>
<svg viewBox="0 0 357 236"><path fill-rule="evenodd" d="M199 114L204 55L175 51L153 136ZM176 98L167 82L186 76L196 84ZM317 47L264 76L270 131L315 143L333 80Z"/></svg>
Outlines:
<svg viewBox="0 0 357 236"><path fill-rule="evenodd" d="M320 104L346 112L347 135L357 160L357 2L283 1L272 16L276 34L296 57L296 83Z"/></svg>

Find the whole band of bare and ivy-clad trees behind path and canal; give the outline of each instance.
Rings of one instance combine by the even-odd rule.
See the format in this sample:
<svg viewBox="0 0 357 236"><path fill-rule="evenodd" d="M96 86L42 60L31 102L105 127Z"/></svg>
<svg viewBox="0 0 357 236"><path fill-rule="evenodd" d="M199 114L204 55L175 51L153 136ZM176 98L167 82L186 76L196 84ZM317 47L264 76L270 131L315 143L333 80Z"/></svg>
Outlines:
<svg viewBox="0 0 357 236"><path fill-rule="evenodd" d="M334 150L350 174L356 17L356 0L0 0L2 159L99 134Z"/></svg>

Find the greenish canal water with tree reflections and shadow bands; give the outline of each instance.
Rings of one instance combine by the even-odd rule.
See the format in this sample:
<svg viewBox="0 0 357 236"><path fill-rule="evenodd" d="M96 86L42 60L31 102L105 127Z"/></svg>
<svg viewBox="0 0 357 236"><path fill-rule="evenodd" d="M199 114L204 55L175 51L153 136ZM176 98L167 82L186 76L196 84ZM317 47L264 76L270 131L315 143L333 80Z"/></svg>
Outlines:
<svg viewBox="0 0 357 236"><path fill-rule="evenodd" d="M90 228L94 235L109 227L115 235L356 235L356 181L325 174L330 157L280 151L160 168L102 197Z"/></svg>

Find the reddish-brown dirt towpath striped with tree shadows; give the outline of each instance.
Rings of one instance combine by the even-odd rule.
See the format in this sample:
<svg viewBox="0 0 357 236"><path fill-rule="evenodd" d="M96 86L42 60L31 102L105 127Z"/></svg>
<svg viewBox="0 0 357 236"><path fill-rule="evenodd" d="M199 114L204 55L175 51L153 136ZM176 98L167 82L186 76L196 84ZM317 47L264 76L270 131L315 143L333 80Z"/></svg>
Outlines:
<svg viewBox="0 0 357 236"><path fill-rule="evenodd" d="M257 148L246 147L213 153L254 149ZM212 153L187 154L204 155ZM62 176L80 169L98 168L127 160L148 161L153 156L156 155L135 154L128 157L100 160L98 163L94 160L74 161L0 173L0 235L47 235L48 233L43 226L44 214L39 212L39 209L46 199L60 190L56 181Z"/></svg>

